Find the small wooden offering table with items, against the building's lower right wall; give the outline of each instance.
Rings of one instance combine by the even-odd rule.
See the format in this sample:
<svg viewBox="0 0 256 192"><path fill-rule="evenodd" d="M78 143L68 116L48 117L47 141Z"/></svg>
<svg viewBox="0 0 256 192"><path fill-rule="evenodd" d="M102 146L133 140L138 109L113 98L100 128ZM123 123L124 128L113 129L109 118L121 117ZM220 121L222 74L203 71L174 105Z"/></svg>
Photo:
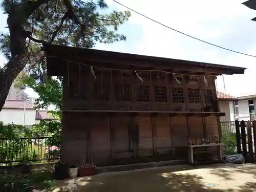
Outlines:
<svg viewBox="0 0 256 192"><path fill-rule="evenodd" d="M190 164L222 162L223 143L210 143L200 145L188 145L188 160ZM217 151L210 150L210 147L217 147ZM212 155L214 152L215 155ZM217 156L216 156L217 155Z"/></svg>

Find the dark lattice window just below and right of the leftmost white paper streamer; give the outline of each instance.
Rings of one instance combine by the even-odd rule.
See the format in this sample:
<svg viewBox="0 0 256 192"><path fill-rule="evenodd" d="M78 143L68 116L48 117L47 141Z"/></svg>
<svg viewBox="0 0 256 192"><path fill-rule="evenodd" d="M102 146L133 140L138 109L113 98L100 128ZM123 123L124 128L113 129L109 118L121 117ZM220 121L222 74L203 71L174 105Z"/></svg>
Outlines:
<svg viewBox="0 0 256 192"><path fill-rule="evenodd" d="M94 100L108 101L110 96L110 87L106 83L95 82L94 83Z"/></svg>

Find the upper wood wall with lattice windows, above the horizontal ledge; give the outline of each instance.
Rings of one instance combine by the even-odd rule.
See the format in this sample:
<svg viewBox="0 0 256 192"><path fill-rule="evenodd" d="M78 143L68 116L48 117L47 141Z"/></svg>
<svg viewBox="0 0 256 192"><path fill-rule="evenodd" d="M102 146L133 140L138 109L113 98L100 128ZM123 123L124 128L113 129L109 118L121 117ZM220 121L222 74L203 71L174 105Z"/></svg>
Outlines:
<svg viewBox="0 0 256 192"><path fill-rule="evenodd" d="M89 67L74 63L65 72L64 110L202 111L217 101L215 77L205 83L204 77L137 72L141 81L135 72L100 69L94 69L94 77Z"/></svg>

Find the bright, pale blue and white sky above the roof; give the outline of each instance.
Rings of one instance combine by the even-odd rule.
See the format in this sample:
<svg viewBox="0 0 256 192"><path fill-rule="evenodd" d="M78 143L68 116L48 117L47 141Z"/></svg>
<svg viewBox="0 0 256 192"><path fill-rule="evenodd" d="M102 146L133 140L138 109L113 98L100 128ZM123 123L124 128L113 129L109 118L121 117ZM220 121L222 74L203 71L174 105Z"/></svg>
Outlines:
<svg viewBox="0 0 256 192"><path fill-rule="evenodd" d="M256 55L256 16L241 3L245 0L119 0L120 3L141 12L159 22L236 51ZM112 0L106 0L110 9L126 10ZM3 12L0 12L1 18ZM6 26L0 20L0 31ZM244 75L225 76L226 92L239 96L256 92L256 58L221 50L167 29L132 12L129 22L123 24L120 33L126 41L112 45L97 45L96 49L179 58L194 61L248 68ZM0 63L4 63L0 56ZM217 87L224 92L223 79L218 77ZM28 90L29 94L33 94Z"/></svg>

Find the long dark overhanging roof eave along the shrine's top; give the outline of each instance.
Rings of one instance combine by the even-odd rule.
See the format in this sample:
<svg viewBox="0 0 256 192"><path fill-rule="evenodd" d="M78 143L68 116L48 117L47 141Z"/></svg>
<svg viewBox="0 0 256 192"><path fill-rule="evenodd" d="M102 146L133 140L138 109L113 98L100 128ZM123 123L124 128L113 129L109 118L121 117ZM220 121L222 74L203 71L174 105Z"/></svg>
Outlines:
<svg viewBox="0 0 256 192"><path fill-rule="evenodd" d="M195 68L207 71L218 71L216 74L244 74L246 68L241 67L234 67L234 66L224 66L224 65L217 65L212 63L205 63L205 62L198 62L198 61L188 61L188 60L181 60L181 59L172 59L172 58L162 58L162 57L154 57L154 56L146 56L146 55L137 55L137 54L129 54L129 53L119 53L119 52L111 52L111 51L102 51L102 50L95 50L95 49L83 49L83 48L74 48L74 47L67 47L67 46L57 46L57 45L50 45L50 44L43 44L44 50L47 56L47 68L48 68L48 75L49 76L62 76L63 72L61 70L61 60L67 61L71 60L74 62L73 59L78 59L79 57L86 58L87 60L82 59L85 61L95 61L95 59L101 59L105 62L112 62L112 63L122 63L123 61L129 63L150 63L148 66L151 67L164 67L166 69L173 69L175 66L182 65L183 68ZM58 51L56 51L58 50ZM72 56L70 56L72 55ZM156 62L158 63L156 65ZM57 67L58 65L58 67ZM186 67L187 66L187 67ZM57 70L53 70L53 68L57 68Z"/></svg>

